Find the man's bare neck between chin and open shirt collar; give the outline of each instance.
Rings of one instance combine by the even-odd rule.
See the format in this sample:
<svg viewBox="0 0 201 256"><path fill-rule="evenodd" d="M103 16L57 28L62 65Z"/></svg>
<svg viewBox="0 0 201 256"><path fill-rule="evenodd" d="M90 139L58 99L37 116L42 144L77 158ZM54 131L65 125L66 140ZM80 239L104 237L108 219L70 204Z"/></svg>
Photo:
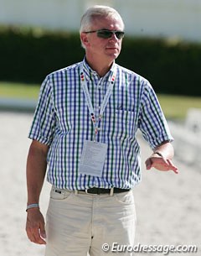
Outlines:
<svg viewBox="0 0 201 256"><path fill-rule="evenodd" d="M101 63L101 61L95 61L94 59L90 60L90 58L87 58L86 56L86 62L90 65L93 71L97 72L100 77L105 76L106 73L110 71L113 61Z"/></svg>

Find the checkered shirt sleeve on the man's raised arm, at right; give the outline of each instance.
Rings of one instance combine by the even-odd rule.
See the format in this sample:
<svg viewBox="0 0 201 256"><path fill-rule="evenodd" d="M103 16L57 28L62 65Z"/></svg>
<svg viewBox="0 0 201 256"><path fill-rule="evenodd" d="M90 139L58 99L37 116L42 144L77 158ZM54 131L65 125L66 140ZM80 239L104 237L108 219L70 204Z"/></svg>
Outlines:
<svg viewBox="0 0 201 256"><path fill-rule="evenodd" d="M173 141L168 123L152 86L147 81L143 88L139 128L152 149L164 141Z"/></svg>

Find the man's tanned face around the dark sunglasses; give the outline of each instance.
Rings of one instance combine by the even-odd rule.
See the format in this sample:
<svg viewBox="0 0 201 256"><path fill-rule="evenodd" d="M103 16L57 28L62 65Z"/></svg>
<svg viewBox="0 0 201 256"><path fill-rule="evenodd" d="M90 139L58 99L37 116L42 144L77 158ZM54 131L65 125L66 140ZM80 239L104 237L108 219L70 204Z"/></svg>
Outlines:
<svg viewBox="0 0 201 256"><path fill-rule="evenodd" d="M108 29L123 31L121 20L116 18L95 18L90 31ZM103 39L97 36L96 33L82 35L82 41L85 44L86 55L98 57L99 60L115 60L121 52L122 39L117 39L115 34L111 38Z"/></svg>

